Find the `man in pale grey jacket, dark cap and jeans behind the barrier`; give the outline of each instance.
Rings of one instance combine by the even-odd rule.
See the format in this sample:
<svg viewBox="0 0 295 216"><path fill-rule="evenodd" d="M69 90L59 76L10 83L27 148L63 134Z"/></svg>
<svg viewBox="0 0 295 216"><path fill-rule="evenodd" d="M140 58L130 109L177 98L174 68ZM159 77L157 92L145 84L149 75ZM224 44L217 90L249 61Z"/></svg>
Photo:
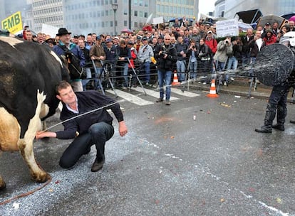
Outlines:
<svg viewBox="0 0 295 216"><path fill-rule="evenodd" d="M138 60L145 70L145 85L149 85L150 82L150 58L154 56L152 47L148 44L148 38L143 37L143 45L138 50Z"/></svg>

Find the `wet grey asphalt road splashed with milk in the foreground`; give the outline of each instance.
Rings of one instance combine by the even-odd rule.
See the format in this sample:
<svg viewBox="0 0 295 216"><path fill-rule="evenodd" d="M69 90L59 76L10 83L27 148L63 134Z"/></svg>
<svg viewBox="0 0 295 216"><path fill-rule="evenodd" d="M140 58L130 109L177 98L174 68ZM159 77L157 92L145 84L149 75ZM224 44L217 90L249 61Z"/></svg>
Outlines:
<svg viewBox="0 0 295 216"><path fill-rule="evenodd" d="M197 93L171 106L121 102L129 133L120 137L114 121L98 173L90 172L94 146L63 170L58 159L70 141L37 141L36 160L52 180L0 205L0 215L295 215L295 105L286 131L258 134L266 100ZM43 185L17 152L2 153L0 167L0 202Z"/></svg>

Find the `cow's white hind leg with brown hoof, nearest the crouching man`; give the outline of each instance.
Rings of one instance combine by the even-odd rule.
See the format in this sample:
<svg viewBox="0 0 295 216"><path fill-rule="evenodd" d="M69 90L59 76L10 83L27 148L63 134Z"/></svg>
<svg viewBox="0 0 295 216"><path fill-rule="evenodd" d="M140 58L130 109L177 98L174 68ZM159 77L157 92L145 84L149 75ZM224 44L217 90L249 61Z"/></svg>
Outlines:
<svg viewBox="0 0 295 216"><path fill-rule="evenodd" d="M48 179L48 175L43 171L36 163L33 155L33 139L36 136L36 131L41 128L40 112L41 104L46 99L46 95L43 92L37 92L37 107L33 118L29 122L28 130L24 135L24 139L19 141L19 150L21 155L29 166L33 180L37 182L44 182Z"/></svg>

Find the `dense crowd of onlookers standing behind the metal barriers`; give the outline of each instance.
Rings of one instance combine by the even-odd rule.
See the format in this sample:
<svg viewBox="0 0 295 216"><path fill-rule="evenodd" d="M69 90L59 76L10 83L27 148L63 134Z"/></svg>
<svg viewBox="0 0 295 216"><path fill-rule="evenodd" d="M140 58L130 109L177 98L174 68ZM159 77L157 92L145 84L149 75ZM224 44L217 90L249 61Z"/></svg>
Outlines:
<svg viewBox="0 0 295 216"><path fill-rule="evenodd" d="M284 33L295 31L294 21L289 21L281 29L277 22L265 23L264 26L257 26L255 33L252 28L249 28L242 37L227 36L219 41L215 24L210 25L202 21L193 24L185 18L182 22L176 18L174 25L170 27L149 26L143 29L145 30L122 33L119 36L88 33L87 36L71 37L70 34L66 41L60 33L56 35L56 38L46 36L44 33L38 33L36 38L33 38L29 28L24 29L23 35L25 40L35 40L37 43L51 46L53 50L58 50L56 47L60 44L68 46L71 43L71 47L76 45L78 50L82 51L83 57L78 56L78 58L81 58L81 66L85 68L88 80L73 80L79 84L74 85L74 90L82 91L89 89L89 83L94 87L98 86L97 80L89 82L89 79L100 77L104 63L112 63L113 66L108 69L114 77L121 77L113 79L115 87L127 90L130 87L128 77L130 73L134 75L133 69L136 69L143 84L150 85L150 74L157 74L156 62L160 57L155 52L161 50L157 47L162 48L164 45L165 35L170 36L170 44L176 49L177 59L170 70L177 72L179 82L207 77L207 80L203 79L206 84L211 79L208 75L214 70L237 70L239 65L254 63L261 48L278 43ZM58 52L58 55L60 54L61 52ZM92 61L95 63L95 72L91 69ZM253 72L250 71L249 75L253 75ZM224 77L224 85L228 85L233 80L233 77ZM131 85L136 87L137 84L137 80L133 78Z"/></svg>

